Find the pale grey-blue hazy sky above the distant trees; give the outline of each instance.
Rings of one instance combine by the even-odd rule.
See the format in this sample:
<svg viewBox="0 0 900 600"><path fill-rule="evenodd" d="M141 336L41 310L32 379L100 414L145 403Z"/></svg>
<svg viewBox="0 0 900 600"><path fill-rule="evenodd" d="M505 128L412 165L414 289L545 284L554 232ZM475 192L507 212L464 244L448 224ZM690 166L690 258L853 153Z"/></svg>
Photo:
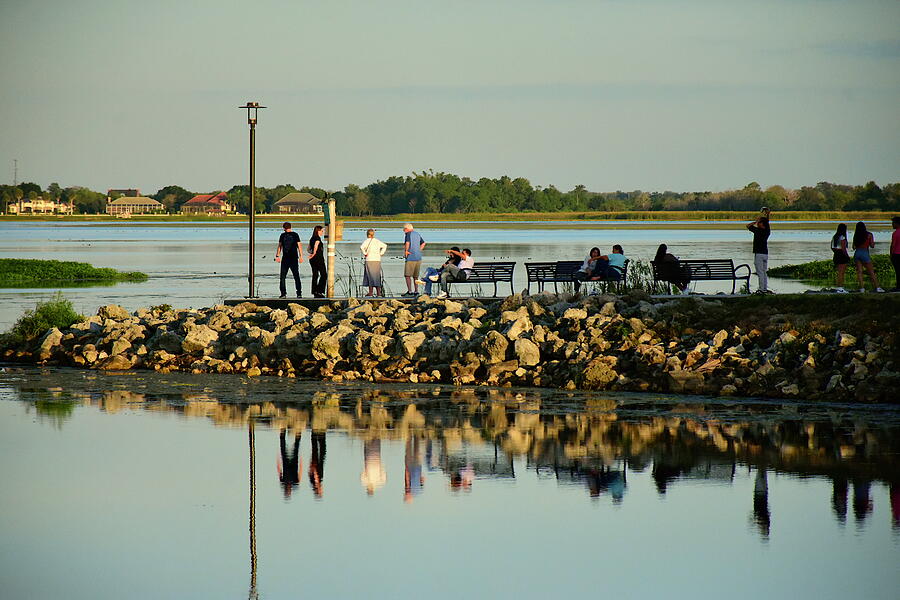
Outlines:
<svg viewBox="0 0 900 600"><path fill-rule="evenodd" d="M0 183L900 181L897 0L0 0Z"/></svg>

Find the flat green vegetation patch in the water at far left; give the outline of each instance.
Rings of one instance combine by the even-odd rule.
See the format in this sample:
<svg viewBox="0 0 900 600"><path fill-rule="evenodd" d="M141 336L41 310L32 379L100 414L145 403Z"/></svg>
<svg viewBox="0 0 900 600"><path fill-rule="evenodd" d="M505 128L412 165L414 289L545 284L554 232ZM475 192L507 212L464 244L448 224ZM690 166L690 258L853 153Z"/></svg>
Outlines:
<svg viewBox="0 0 900 600"><path fill-rule="evenodd" d="M31 258L0 258L0 287L24 287L61 282L146 281L138 271L123 272L92 267L87 263ZM56 287L56 286L54 286Z"/></svg>

